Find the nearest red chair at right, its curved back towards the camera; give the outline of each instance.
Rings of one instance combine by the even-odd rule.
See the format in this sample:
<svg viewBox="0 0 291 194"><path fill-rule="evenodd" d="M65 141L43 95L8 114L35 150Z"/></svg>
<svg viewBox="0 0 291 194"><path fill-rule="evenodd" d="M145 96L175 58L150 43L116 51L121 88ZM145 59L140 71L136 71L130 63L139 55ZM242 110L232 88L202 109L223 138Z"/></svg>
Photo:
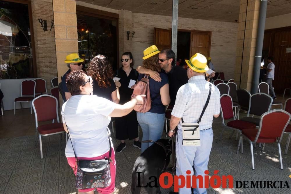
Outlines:
<svg viewBox="0 0 291 194"><path fill-rule="evenodd" d="M252 169L255 169L254 154L253 154L253 144L263 143L262 151L265 148L265 143L277 143L279 151L279 161L280 168L283 169L282 156L281 156L281 140L283 138L284 131L290 122L291 115L287 111L282 109L274 109L267 113L264 113L260 118L259 129L242 129L242 134L240 135L239 142L242 142L242 136L246 138L251 146L251 158L252 158ZM278 141L277 141L278 139ZM239 151L240 143L237 147L237 152Z"/></svg>

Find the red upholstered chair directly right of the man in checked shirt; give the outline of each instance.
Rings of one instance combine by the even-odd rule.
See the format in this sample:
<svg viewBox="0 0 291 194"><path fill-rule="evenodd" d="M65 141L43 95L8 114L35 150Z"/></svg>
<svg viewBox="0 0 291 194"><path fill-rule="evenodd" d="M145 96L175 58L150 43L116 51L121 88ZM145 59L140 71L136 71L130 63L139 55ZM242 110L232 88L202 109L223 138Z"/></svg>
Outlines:
<svg viewBox="0 0 291 194"><path fill-rule="evenodd" d="M230 95L223 94L220 97L220 113L221 113L223 129L222 129L221 135L219 136L219 139L217 140L216 143L218 143L220 141L220 139L223 135L224 129L230 129L230 130L233 130L233 132L237 131L239 134L242 134L242 129L245 129L245 128L255 129L255 124L253 124L253 123L235 120L235 115L233 114L233 100L231 99ZM233 119L233 120L229 121L227 124L225 124L224 120L228 120L228 119ZM242 144L242 142L241 142L241 144ZM241 148L242 148L242 146L241 146ZM243 152L243 149L241 149L241 151Z"/></svg>

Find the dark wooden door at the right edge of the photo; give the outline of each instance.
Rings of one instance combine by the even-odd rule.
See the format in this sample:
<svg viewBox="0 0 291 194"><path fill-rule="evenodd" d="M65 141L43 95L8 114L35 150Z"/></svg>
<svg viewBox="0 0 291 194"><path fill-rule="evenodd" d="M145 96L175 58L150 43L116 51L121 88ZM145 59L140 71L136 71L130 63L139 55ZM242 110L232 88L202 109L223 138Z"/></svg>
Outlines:
<svg viewBox="0 0 291 194"><path fill-rule="evenodd" d="M270 48L271 56L274 57L275 79L273 86L275 90L283 91L290 88L291 83L291 29L276 31L273 33L274 42Z"/></svg>

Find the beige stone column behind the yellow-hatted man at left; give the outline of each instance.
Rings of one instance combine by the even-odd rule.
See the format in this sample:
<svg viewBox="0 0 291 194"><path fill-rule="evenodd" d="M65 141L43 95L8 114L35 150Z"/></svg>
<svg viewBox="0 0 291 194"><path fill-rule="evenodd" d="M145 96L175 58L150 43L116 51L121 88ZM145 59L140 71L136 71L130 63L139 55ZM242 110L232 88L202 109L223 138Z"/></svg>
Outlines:
<svg viewBox="0 0 291 194"><path fill-rule="evenodd" d="M78 53L76 1L53 0L53 10L58 80L61 82L61 76L68 71L66 56Z"/></svg>

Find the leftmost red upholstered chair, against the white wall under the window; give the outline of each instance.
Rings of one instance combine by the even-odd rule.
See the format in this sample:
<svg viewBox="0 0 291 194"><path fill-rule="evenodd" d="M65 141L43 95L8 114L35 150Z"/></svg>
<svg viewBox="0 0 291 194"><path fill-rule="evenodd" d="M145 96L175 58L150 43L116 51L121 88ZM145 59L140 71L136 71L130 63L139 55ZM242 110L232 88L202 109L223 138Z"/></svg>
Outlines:
<svg viewBox="0 0 291 194"><path fill-rule="evenodd" d="M14 115L15 115L15 103L20 102L22 108L22 102L30 102L30 113L32 114L31 101L35 97L36 82L28 79L20 83L21 85L21 97L14 99Z"/></svg>

